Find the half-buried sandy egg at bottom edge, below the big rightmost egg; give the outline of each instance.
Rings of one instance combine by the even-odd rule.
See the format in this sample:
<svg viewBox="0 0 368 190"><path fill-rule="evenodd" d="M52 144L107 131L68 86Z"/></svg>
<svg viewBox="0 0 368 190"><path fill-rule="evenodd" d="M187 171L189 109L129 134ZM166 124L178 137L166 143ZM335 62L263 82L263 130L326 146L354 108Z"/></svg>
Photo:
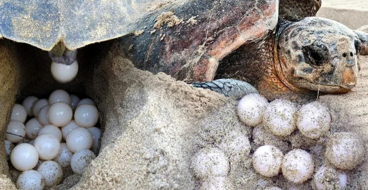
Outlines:
<svg viewBox="0 0 368 190"><path fill-rule="evenodd" d="M346 173L322 165L313 175L313 187L316 190L344 190L348 184Z"/></svg>

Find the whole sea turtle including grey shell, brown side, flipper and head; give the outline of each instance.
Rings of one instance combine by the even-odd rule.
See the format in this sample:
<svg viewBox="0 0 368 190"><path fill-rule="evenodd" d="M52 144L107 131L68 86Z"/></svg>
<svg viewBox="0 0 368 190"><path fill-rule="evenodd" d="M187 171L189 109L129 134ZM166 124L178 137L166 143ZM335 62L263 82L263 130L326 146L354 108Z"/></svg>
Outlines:
<svg viewBox="0 0 368 190"><path fill-rule="evenodd" d="M0 0L0 38L51 50L53 61L68 65L77 48L120 37L114 40L137 68L225 95L255 92L246 82L266 96L345 93L356 83L359 53L368 54L368 35L313 17L320 6L321 0Z"/></svg>

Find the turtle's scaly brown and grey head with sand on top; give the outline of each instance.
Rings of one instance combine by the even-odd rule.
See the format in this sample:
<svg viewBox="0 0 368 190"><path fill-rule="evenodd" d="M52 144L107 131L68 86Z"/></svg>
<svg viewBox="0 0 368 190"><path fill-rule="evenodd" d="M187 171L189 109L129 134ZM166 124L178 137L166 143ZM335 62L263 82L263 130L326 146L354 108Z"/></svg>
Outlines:
<svg viewBox="0 0 368 190"><path fill-rule="evenodd" d="M284 25L278 31L275 51L275 68L282 82L325 93L346 93L355 86L362 45L357 33L316 17Z"/></svg>

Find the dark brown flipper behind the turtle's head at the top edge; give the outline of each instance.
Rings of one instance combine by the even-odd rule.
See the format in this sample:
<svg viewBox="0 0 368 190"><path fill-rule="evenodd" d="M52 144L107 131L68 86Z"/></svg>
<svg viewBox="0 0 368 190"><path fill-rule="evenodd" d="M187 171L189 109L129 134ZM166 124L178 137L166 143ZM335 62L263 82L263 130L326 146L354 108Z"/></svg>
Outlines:
<svg viewBox="0 0 368 190"><path fill-rule="evenodd" d="M321 4L322 0L280 0L279 17L290 21L314 17Z"/></svg>

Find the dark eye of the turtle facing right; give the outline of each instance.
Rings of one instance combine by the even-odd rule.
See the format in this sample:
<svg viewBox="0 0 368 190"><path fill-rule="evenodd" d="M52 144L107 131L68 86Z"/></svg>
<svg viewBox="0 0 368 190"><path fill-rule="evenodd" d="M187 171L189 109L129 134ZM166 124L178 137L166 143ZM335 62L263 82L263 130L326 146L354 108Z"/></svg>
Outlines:
<svg viewBox="0 0 368 190"><path fill-rule="evenodd" d="M312 66L322 66L328 61L329 50L323 44L304 46L302 52L306 62Z"/></svg>

